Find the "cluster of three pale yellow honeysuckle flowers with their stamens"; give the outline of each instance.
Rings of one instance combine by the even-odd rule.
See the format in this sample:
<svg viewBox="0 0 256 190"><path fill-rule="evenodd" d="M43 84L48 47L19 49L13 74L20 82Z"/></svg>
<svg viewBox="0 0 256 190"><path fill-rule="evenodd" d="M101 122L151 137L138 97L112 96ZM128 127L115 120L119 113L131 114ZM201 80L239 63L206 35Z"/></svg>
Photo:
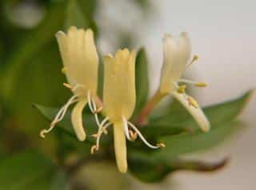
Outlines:
<svg viewBox="0 0 256 190"><path fill-rule="evenodd" d="M98 151L102 134L107 134L107 128L114 128L114 151L118 169L127 171L126 139L135 141L139 137L150 148L162 148L165 144L150 144L138 128L130 122L136 103L135 92L135 59L136 52L128 49L119 49L114 56L106 55L104 61L104 84L102 100L97 95L98 87L98 53L94 43L92 30L82 30L71 26L67 34L59 31L56 34L58 46L62 56L62 72L66 74L68 83L64 83L74 94L57 113L50 124L49 129L43 129L41 137L45 137L54 126L62 121L70 105L74 105L71 113L71 121L79 141L86 140L86 131L82 122L82 110L86 105L94 114L98 133L93 134L96 144L92 146L91 153ZM162 65L162 77L158 91L150 99L142 113L138 116L136 125L146 122L151 109L162 100L162 97L170 95L181 102L191 113L194 120L203 131L210 129L202 109L193 97L186 94L186 85L206 86L202 82L182 79L182 73L194 61L190 61L190 40L186 33L182 33L178 39L169 34L163 38L164 61ZM105 117L99 121L98 114Z"/></svg>

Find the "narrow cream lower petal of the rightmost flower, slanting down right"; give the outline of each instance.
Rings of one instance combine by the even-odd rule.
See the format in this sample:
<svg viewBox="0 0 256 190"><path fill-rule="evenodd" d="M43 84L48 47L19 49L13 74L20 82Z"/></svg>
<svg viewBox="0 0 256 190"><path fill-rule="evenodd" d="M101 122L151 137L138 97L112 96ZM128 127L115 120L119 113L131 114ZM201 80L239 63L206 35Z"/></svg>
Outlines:
<svg viewBox="0 0 256 190"><path fill-rule="evenodd" d="M199 127L204 132L208 132L210 130L210 122L208 121L206 115L202 112L200 107L195 108L194 106L190 105L189 102L186 100L186 96L184 93L171 93L194 117L194 120L198 123Z"/></svg>

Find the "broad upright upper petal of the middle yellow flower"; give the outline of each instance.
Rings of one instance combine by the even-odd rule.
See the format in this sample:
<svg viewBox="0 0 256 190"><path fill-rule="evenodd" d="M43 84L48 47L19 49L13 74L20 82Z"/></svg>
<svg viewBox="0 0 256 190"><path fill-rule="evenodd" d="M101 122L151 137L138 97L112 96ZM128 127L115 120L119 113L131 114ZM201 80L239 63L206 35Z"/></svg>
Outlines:
<svg viewBox="0 0 256 190"><path fill-rule="evenodd" d="M135 106L135 56L128 49L104 57L103 102L110 121L128 120Z"/></svg>

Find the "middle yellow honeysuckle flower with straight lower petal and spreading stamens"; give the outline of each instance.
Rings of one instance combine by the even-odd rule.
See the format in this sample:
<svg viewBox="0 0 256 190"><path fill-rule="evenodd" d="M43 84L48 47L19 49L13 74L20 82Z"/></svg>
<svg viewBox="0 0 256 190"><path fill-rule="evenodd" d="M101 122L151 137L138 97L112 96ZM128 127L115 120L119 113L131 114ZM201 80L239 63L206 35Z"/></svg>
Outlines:
<svg viewBox="0 0 256 190"><path fill-rule="evenodd" d="M134 141L138 136L150 148L159 148L146 141L130 121L134 112L136 101L135 94L135 51L128 49L118 50L115 56L107 55L104 57L104 88L103 88L103 110L106 118L99 126L97 143L91 148L91 152L97 151L103 129L113 125L114 127L114 152L118 169L126 172L126 138ZM129 129L130 127L130 129Z"/></svg>

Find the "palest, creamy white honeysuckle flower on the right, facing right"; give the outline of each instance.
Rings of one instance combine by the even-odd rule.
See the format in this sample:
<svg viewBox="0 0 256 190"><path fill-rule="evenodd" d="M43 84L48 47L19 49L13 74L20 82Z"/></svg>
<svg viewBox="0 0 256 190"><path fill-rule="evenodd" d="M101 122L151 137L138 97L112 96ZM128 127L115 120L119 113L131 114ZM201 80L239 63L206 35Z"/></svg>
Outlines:
<svg viewBox="0 0 256 190"><path fill-rule="evenodd" d="M202 82L182 79L182 73L184 73L191 63L198 59L197 56L194 56L192 61L189 61L190 53L191 46L188 34L182 33L178 39L174 39L170 34L166 34L163 38L164 61L159 93L170 94L176 98L190 112L200 128L207 132L210 129L210 122L202 112L202 109L200 109L197 101L186 94L186 85L181 85L181 83L187 83L199 87L206 86L206 84Z"/></svg>

